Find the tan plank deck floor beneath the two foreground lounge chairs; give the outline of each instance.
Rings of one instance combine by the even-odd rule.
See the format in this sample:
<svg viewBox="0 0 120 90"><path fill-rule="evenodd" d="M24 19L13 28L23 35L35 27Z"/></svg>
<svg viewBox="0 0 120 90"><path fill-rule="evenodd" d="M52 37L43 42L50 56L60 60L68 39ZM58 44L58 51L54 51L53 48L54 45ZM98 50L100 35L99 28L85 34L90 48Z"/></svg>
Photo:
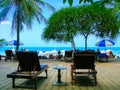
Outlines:
<svg viewBox="0 0 120 90"><path fill-rule="evenodd" d="M96 62L97 85L87 78L78 78L79 83L71 84L70 63L58 60L40 60L41 64L48 64L48 78L45 79L45 73L40 74L38 78L38 90L120 90L120 59L109 60L107 62ZM33 86L32 80L16 79L16 85L21 88L12 88L12 79L6 75L17 69L17 61L0 61L0 90L21 90L24 86ZM67 82L66 86L53 86L53 82L57 80L57 70L53 69L54 65L63 65L67 69L62 70L62 81ZM22 90L34 90L22 88Z"/></svg>

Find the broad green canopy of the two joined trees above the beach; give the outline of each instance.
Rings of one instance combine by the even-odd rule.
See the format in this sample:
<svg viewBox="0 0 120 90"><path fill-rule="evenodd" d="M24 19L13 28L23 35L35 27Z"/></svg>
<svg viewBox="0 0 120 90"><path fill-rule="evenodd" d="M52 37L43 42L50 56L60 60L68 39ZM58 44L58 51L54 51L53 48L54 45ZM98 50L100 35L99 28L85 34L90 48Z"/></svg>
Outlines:
<svg viewBox="0 0 120 90"><path fill-rule="evenodd" d="M42 37L74 43L79 34L85 37L85 47L90 34L115 38L119 34L119 21L111 9L98 3L62 8L49 18Z"/></svg>

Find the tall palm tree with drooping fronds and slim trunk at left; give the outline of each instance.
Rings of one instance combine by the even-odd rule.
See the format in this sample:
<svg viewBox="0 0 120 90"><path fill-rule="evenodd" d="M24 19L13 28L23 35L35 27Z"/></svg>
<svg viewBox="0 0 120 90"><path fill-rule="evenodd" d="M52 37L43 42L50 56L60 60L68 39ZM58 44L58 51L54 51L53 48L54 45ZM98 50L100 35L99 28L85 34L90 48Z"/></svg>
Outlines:
<svg viewBox="0 0 120 90"><path fill-rule="evenodd" d="M32 28L32 23L37 20L46 22L47 19L42 15L42 7L47 7L54 11L55 9L48 3L42 0L0 0L0 21L9 18L12 14L12 32L16 30L17 45L19 49L20 31L26 25L27 28Z"/></svg>

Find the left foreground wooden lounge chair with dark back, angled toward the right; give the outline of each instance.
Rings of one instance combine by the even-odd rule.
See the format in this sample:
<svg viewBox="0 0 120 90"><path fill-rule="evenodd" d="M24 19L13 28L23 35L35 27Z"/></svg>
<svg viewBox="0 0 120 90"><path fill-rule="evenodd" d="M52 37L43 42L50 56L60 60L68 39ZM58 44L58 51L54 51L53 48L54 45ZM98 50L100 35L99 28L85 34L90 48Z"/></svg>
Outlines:
<svg viewBox="0 0 120 90"><path fill-rule="evenodd" d="M19 61L17 71L7 74L8 78L12 78L12 87L15 87L15 79L33 79L35 80L35 90L37 89L37 77L45 71L47 78L48 65L41 65L37 52L33 51L16 51Z"/></svg>

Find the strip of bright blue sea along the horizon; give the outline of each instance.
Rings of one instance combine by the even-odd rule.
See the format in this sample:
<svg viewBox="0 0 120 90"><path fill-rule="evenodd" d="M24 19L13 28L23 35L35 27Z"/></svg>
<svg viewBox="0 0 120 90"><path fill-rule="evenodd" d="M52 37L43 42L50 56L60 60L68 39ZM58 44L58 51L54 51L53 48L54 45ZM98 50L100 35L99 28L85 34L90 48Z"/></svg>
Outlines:
<svg viewBox="0 0 120 90"><path fill-rule="evenodd" d="M2 55L5 55L5 50L11 50L11 49L15 49L15 47L0 47L0 54ZM71 47L19 47L19 50L21 49L27 49L27 50L30 50L30 51L37 51L39 52L40 50L42 51L51 51L51 50L72 50ZM88 47L88 50L97 50L97 49L100 49L101 51L102 50L105 50L104 47ZM79 49L79 50L85 50L84 47L76 47L76 49ZM113 51L113 54L115 55L118 55L120 54L120 47L107 47L106 50L112 50Z"/></svg>

